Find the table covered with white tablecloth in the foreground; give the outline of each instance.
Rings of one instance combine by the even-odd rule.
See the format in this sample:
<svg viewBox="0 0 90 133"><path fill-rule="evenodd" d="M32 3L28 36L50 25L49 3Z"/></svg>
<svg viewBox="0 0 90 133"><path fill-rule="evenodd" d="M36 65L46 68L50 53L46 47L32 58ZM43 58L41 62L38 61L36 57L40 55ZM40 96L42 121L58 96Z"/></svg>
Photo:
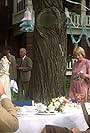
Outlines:
<svg viewBox="0 0 90 133"><path fill-rule="evenodd" d="M81 109L70 109L64 113L52 115L27 113L18 118L20 125L16 133L40 133L48 124L67 128L77 127L80 130L88 128Z"/></svg>

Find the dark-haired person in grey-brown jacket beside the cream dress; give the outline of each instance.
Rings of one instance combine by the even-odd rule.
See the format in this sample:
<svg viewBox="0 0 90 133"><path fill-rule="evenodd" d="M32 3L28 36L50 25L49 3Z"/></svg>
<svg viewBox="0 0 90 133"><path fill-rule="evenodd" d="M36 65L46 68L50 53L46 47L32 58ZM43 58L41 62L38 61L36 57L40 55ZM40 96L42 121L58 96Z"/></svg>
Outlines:
<svg viewBox="0 0 90 133"><path fill-rule="evenodd" d="M9 67L9 73L10 73L10 80L17 80L17 69L16 69L16 59L15 56L10 53L11 48L9 46L6 46L4 48L4 54L7 56L10 67Z"/></svg>

